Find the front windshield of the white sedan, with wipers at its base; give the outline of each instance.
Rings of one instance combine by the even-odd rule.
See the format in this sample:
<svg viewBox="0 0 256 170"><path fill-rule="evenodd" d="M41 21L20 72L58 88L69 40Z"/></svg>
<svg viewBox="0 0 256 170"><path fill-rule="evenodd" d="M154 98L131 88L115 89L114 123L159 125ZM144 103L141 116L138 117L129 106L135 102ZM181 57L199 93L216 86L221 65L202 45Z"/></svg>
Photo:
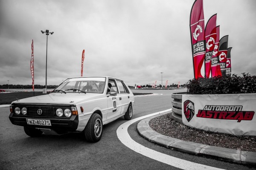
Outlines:
<svg viewBox="0 0 256 170"><path fill-rule="evenodd" d="M66 79L52 93L103 93L105 77L79 77Z"/></svg>

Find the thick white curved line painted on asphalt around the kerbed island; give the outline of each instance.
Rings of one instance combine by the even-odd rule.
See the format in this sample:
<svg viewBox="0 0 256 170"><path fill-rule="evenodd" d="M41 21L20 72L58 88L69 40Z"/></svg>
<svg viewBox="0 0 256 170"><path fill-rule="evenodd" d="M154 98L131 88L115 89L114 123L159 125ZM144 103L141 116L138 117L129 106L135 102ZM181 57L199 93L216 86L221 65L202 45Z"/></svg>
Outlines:
<svg viewBox="0 0 256 170"><path fill-rule="evenodd" d="M157 113L152 113L146 116L141 116L136 119L131 119L128 122L123 123L118 127L116 130L116 134L118 139L127 147L129 147L131 150L134 150L137 153L140 153L144 156L147 156L151 159L163 162L165 164L169 164L173 167L177 167L183 170L222 170L216 167L210 167L204 164L198 164L191 161L186 161L183 159L179 159L173 156L166 155L164 153L157 152L155 150L149 149L148 147L145 147L137 142L135 142L133 139L131 139L131 136L128 134L128 127L132 125L134 122L137 122L138 120L145 119L150 116L154 116L157 114L165 113L168 111L172 111L172 109L168 109L165 111L160 111Z"/></svg>

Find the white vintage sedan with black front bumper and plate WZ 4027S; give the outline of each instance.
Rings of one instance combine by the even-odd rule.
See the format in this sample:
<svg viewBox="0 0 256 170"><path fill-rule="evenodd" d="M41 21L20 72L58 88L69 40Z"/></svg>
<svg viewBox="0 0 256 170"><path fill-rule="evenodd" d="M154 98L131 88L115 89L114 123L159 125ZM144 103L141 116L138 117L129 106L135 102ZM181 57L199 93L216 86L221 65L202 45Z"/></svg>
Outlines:
<svg viewBox="0 0 256 170"><path fill-rule="evenodd" d="M124 116L133 116L134 95L120 79L75 77L66 79L50 94L12 102L12 124L24 127L28 136L84 133L89 142L98 142L103 125Z"/></svg>

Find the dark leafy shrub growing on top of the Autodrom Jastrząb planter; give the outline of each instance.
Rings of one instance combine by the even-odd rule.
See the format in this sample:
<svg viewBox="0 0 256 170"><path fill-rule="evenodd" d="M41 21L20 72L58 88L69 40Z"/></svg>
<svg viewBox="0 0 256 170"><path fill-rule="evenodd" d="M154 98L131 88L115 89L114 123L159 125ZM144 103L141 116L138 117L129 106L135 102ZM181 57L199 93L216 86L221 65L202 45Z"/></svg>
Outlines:
<svg viewBox="0 0 256 170"><path fill-rule="evenodd" d="M248 94L256 93L256 76L242 73L227 77L191 79L186 84L187 94Z"/></svg>

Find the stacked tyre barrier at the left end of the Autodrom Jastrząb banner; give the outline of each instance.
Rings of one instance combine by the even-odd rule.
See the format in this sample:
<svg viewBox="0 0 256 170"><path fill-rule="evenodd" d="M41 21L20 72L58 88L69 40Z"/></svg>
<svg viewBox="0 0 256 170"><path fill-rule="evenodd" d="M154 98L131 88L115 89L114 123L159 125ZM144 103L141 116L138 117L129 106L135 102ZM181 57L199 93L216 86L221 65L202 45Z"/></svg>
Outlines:
<svg viewBox="0 0 256 170"><path fill-rule="evenodd" d="M183 93L174 93L172 94L172 117L175 121L182 122L182 94L186 94L186 92Z"/></svg>

